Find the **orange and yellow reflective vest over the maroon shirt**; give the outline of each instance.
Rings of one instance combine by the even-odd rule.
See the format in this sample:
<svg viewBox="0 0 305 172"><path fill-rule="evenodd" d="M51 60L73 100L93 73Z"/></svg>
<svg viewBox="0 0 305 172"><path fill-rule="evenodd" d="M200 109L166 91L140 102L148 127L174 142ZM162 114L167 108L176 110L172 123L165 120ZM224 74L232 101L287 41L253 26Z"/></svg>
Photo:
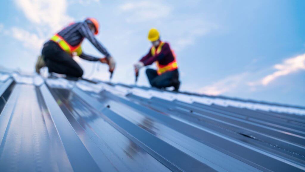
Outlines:
<svg viewBox="0 0 305 172"><path fill-rule="evenodd" d="M158 55L161 50L162 50L162 47L165 43L164 42L160 42L160 45L158 46L158 48L156 49L155 46L152 46L151 48L151 54L152 56L155 56L155 55ZM173 50L171 50L173 56L174 56L174 60L170 63L168 63L167 65L160 65L158 61L156 61L156 65L157 65L157 73L158 75L161 75L162 73L165 73L165 72L168 72L168 71L173 71L175 69L178 69L178 65L177 65L177 61L176 61L176 54L174 53Z"/></svg>

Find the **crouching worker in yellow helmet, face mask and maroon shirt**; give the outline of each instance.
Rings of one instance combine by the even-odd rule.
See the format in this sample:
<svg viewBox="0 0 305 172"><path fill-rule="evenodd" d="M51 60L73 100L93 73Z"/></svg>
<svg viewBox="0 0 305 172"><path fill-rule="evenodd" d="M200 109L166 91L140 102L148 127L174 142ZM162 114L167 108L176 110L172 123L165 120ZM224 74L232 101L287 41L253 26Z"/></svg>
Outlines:
<svg viewBox="0 0 305 172"><path fill-rule="evenodd" d="M170 49L169 43L161 41L160 34L156 28L149 30L148 39L151 41L152 47L149 49L148 54L134 64L136 73L140 68L156 62L157 70L146 69L150 85L156 88L173 86L174 91L178 91L180 81L174 51Z"/></svg>

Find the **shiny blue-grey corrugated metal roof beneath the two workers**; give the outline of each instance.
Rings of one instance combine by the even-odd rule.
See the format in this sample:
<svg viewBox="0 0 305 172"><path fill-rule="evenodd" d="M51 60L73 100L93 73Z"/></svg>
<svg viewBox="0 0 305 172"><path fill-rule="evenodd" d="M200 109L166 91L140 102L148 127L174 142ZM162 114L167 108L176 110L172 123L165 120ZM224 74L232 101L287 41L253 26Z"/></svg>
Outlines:
<svg viewBox="0 0 305 172"><path fill-rule="evenodd" d="M304 171L305 108L0 73L0 171Z"/></svg>

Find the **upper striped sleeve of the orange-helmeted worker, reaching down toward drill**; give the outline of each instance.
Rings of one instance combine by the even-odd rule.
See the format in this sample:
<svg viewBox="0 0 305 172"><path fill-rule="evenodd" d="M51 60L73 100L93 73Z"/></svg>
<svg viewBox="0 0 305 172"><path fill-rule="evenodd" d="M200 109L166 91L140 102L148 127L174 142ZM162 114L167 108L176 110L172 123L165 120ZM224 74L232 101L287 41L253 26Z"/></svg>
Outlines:
<svg viewBox="0 0 305 172"><path fill-rule="evenodd" d="M95 36L91 32L87 23L85 23L85 22L82 23L82 26L80 27L79 32L81 33L82 36L87 38L94 45L94 47L96 47L96 49L99 50L99 52L104 54L106 56L106 58L110 57L110 54L108 53L106 48L103 47L103 45L95 38Z"/></svg>

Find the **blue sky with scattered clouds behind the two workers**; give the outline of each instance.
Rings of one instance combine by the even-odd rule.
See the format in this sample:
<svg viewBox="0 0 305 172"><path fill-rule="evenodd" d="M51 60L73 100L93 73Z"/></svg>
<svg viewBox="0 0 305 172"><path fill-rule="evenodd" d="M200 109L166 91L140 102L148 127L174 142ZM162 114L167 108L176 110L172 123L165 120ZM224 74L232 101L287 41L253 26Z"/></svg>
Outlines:
<svg viewBox="0 0 305 172"><path fill-rule="evenodd" d="M0 66L33 73L44 42L95 17L117 62L114 83L134 84L133 64L157 28L177 55L181 91L305 106L304 8L302 0L1 1ZM87 40L82 47L103 57ZM109 80L106 65L77 62L84 77ZM138 85L149 85L145 69Z"/></svg>

